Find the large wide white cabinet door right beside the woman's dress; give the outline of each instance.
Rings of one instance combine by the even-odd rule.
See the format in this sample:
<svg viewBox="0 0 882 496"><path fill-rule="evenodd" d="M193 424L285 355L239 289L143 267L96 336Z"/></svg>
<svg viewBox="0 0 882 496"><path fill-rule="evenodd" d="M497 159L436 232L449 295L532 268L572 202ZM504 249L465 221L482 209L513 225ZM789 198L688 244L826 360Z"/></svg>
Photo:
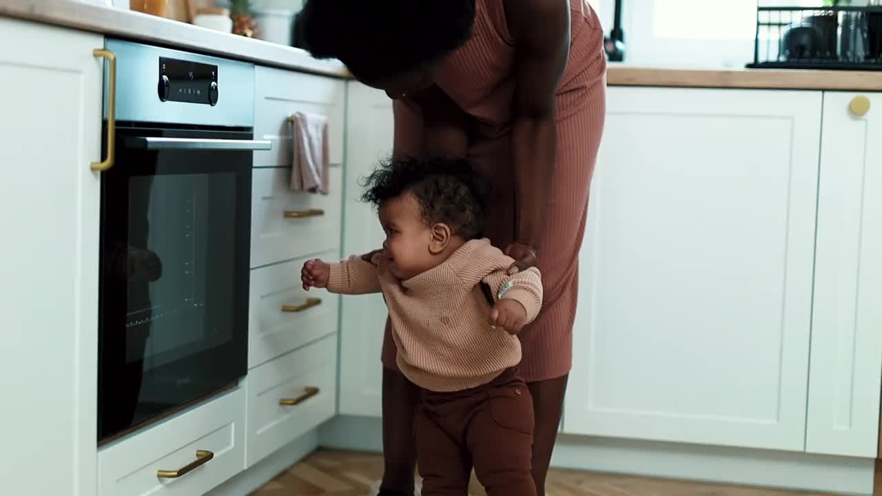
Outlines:
<svg viewBox="0 0 882 496"><path fill-rule="evenodd" d="M564 432L804 449L821 99L610 88Z"/></svg>

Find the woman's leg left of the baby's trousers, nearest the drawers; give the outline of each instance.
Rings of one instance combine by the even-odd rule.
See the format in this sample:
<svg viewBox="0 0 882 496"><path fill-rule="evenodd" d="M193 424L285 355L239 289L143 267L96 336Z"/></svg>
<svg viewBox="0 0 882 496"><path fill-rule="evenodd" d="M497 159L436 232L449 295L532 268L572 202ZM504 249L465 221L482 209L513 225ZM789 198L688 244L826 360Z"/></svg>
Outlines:
<svg viewBox="0 0 882 496"><path fill-rule="evenodd" d="M383 482L390 496L414 493L416 470L415 418L420 388L407 380L395 366L395 343L386 319L383 340Z"/></svg>

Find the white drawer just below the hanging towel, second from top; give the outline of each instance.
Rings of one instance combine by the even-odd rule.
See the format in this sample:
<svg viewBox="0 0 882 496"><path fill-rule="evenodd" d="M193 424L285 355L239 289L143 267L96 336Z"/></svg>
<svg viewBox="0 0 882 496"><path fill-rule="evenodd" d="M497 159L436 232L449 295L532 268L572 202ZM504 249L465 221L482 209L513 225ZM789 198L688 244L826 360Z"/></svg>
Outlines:
<svg viewBox="0 0 882 496"><path fill-rule="evenodd" d="M251 267L340 250L342 180L330 169L330 193L293 192L290 169L254 169Z"/></svg>

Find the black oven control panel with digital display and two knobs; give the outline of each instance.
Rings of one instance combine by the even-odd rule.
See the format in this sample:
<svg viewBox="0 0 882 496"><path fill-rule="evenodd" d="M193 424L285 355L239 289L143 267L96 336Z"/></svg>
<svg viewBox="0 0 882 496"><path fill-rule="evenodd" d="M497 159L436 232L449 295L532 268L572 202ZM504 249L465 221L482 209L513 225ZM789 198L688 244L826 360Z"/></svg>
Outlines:
<svg viewBox="0 0 882 496"><path fill-rule="evenodd" d="M161 56L158 89L161 101L216 105L218 66Z"/></svg>

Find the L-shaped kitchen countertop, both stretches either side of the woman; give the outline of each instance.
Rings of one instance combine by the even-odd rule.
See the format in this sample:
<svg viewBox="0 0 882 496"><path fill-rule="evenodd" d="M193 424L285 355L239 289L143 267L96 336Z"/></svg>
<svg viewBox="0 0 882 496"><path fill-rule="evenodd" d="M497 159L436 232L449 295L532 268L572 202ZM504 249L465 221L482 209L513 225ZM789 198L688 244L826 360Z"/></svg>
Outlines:
<svg viewBox="0 0 882 496"><path fill-rule="evenodd" d="M73 0L0 0L0 15L68 26L108 36L191 49L294 71L348 78L336 60L316 60L302 49L251 40L199 26ZM609 86L882 91L882 71L669 69L609 64Z"/></svg>

